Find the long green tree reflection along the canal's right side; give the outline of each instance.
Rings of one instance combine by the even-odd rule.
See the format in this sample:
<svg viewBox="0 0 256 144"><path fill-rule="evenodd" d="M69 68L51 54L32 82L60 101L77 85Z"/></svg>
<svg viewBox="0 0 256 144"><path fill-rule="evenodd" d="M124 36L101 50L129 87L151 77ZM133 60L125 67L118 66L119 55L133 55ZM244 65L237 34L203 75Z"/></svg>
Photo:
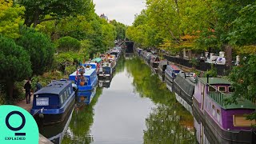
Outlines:
<svg viewBox="0 0 256 144"><path fill-rule="evenodd" d="M192 115L176 102L174 94L167 90L158 75L153 75L139 58L126 60L126 68L134 77L135 91L157 104L146 118L144 143L194 142Z"/></svg>

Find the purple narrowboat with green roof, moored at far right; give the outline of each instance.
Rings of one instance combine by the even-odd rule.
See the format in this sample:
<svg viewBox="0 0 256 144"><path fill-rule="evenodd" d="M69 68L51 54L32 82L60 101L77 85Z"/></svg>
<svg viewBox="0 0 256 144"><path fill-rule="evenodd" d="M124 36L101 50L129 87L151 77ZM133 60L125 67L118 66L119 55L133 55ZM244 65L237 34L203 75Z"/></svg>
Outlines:
<svg viewBox="0 0 256 144"><path fill-rule="evenodd" d="M231 82L223 78L198 78L194 88L193 114L198 143L256 143L255 120L246 119L256 105L244 98L226 104L232 97Z"/></svg>

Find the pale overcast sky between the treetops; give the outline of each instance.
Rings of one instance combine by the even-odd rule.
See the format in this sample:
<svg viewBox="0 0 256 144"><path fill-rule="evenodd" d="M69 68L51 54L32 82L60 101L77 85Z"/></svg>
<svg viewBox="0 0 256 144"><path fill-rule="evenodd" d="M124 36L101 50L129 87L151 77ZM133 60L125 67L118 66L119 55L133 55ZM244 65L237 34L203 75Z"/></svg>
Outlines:
<svg viewBox="0 0 256 144"><path fill-rule="evenodd" d="M105 14L110 20L117 20L131 26L134 14L140 14L145 8L145 0L94 0L98 15Z"/></svg>

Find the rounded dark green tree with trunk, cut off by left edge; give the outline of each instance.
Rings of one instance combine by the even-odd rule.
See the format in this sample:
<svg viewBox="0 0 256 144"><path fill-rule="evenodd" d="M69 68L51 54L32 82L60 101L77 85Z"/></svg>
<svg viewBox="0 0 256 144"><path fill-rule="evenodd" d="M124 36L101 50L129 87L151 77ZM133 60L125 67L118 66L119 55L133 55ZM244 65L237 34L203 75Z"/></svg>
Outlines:
<svg viewBox="0 0 256 144"><path fill-rule="evenodd" d="M0 82L6 83L7 93L13 98L14 82L32 74L30 55L14 40L0 35L0 62Z"/></svg>

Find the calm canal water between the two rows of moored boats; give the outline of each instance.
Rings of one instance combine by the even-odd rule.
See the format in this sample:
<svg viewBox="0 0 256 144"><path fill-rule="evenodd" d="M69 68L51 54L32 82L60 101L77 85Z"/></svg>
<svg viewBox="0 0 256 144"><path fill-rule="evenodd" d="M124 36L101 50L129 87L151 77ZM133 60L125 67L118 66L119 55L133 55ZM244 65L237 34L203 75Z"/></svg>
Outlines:
<svg viewBox="0 0 256 144"><path fill-rule="evenodd" d="M62 143L194 143L193 116L139 58L118 61L109 88L76 106Z"/></svg>

